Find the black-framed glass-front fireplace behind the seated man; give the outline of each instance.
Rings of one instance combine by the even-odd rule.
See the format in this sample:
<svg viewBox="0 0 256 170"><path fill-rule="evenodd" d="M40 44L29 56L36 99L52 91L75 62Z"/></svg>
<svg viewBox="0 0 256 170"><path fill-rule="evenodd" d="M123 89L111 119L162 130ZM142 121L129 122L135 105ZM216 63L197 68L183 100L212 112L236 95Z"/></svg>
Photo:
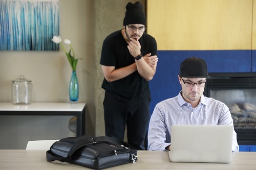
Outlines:
<svg viewBox="0 0 256 170"><path fill-rule="evenodd" d="M256 72L209 73L204 95L225 103L238 144L256 144Z"/></svg>

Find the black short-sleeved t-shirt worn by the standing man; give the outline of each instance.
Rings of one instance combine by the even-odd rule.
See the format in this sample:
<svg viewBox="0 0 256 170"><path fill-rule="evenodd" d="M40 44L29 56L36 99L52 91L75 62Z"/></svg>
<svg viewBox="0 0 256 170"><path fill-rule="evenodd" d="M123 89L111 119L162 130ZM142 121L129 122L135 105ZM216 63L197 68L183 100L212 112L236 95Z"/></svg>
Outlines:
<svg viewBox="0 0 256 170"><path fill-rule="evenodd" d="M143 33L139 42L143 56L148 53L151 53L152 56L157 55L157 43L154 37ZM135 59L130 54L127 45L121 30L110 34L103 42L100 64L115 66L117 69L135 63ZM102 88L114 94L118 100L123 102L139 103L151 98L148 81L142 78L138 71L113 82L108 82L104 79Z"/></svg>

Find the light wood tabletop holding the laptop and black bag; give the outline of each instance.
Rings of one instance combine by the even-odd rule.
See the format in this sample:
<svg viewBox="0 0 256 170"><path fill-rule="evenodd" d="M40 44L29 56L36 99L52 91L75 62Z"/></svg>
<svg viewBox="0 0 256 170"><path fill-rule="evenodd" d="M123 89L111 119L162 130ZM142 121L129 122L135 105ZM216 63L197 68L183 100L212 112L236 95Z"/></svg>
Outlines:
<svg viewBox="0 0 256 170"><path fill-rule="evenodd" d="M138 151L138 161L107 169L232 169L255 170L256 152L234 152L231 163L182 163L170 162L166 151ZM3 170L72 170L90 169L70 163L46 161L45 150L0 150L0 169Z"/></svg>

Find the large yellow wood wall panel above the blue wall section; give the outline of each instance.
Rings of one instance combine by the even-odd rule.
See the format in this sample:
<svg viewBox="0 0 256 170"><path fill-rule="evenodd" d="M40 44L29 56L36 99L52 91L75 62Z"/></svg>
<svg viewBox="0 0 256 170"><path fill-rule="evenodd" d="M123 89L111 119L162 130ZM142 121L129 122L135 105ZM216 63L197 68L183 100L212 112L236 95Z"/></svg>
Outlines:
<svg viewBox="0 0 256 170"><path fill-rule="evenodd" d="M253 0L147 0L147 33L158 50L250 50L252 11Z"/></svg>

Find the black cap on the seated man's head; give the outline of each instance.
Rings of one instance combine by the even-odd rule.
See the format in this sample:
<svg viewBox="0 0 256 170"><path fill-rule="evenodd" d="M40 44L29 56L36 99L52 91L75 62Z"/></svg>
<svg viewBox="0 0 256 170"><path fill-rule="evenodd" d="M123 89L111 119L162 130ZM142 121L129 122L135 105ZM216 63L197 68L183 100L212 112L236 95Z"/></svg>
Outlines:
<svg viewBox="0 0 256 170"><path fill-rule="evenodd" d="M197 57L189 57L180 65L180 77L185 78L209 78L206 62Z"/></svg>

